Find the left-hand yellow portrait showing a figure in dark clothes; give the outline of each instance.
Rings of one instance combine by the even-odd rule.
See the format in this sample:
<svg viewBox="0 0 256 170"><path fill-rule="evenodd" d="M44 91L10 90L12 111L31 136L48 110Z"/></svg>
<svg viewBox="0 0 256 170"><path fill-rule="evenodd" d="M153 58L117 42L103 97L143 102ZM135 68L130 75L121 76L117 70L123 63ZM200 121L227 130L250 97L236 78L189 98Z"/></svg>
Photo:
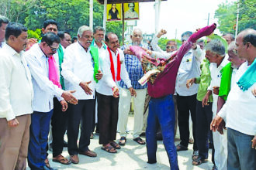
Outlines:
<svg viewBox="0 0 256 170"><path fill-rule="evenodd" d="M120 21L122 19L122 4L107 5L107 21Z"/></svg>

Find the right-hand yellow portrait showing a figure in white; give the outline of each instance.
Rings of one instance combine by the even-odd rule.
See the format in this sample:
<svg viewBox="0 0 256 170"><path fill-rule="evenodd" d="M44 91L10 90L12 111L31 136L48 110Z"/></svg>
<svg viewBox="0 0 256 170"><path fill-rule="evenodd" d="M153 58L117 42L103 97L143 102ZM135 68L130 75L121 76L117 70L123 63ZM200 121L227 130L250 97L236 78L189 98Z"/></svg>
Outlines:
<svg viewBox="0 0 256 170"><path fill-rule="evenodd" d="M139 19L139 2L131 2L123 4L124 19Z"/></svg>

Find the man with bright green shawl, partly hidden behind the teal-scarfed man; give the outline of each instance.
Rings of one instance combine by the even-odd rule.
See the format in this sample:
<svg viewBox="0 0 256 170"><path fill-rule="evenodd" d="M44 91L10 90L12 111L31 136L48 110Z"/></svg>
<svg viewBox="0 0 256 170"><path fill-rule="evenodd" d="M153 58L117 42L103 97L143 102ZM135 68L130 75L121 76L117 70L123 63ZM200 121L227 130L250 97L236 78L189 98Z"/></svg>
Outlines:
<svg viewBox="0 0 256 170"><path fill-rule="evenodd" d="M235 42L231 42L230 46L228 48L228 60L230 63L228 63L226 66L223 67L223 69L220 71L221 81L220 81L220 91L219 91L219 97L218 97L218 103L217 103L217 113L220 111L220 109L223 107L223 104L225 104L227 100L228 93L230 93L230 88L234 86L236 83L234 80L234 76L237 73L237 70L239 69L240 65L245 62L244 59L240 59L237 56L237 53L235 53ZM222 124L220 124L218 131L220 134L223 134L223 126L225 125L225 122L223 121Z"/></svg>

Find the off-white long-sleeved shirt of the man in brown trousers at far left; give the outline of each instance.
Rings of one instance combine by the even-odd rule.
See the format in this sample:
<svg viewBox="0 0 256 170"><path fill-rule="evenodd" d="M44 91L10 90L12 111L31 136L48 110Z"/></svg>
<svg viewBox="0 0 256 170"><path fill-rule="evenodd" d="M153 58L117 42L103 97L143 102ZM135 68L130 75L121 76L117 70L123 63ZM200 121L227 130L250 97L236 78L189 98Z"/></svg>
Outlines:
<svg viewBox="0 0 256 170"><path fill-rule="evenodd" d="M0 49L0 117L10 121L33 113L33 85L26 60L11 46Z"/></svg>

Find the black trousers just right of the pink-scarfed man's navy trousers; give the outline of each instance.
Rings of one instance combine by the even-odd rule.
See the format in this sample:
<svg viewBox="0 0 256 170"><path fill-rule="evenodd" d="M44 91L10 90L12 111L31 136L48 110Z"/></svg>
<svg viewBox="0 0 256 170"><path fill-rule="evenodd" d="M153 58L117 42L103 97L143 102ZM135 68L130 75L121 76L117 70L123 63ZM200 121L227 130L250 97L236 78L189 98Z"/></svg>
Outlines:
<svg viewBox="0 0 256 170"><path fill-rule="evenodd" d="M57 98L54 97L54 114L51 117L51 126L53 134L53 157L61 155L64 147L64 134L67 128L67 110L63 112L61 110L61 107L62 106L59 100L57 100Z"/></svg>

